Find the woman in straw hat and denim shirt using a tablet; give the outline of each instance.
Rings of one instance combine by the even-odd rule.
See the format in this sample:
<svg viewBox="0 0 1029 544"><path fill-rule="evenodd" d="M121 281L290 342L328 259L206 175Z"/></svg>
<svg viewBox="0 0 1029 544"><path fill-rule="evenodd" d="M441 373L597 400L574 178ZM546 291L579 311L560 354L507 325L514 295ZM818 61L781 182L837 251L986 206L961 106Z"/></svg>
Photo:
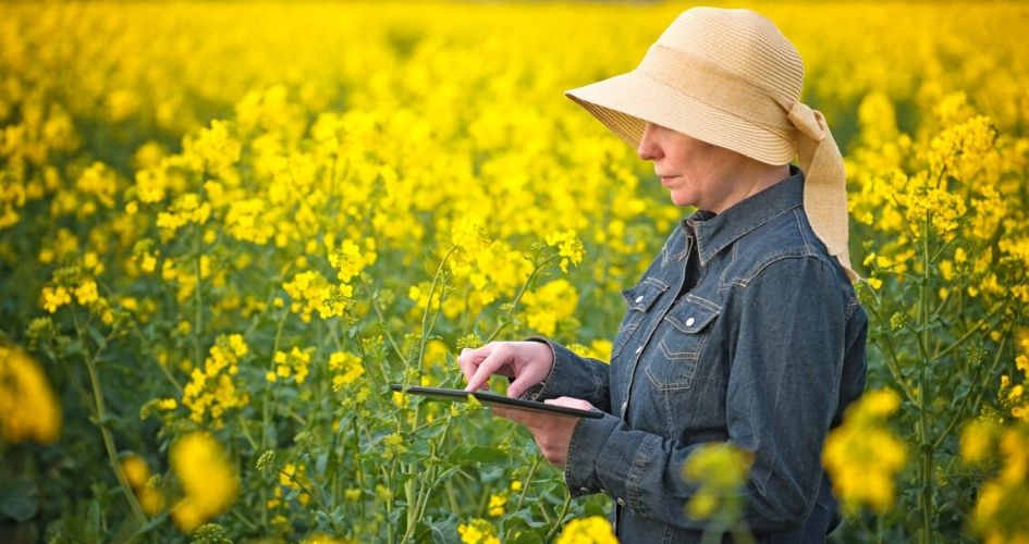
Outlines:
<svg viewBox="0 0 1029 544"><path fill-rule="evenodd" d="M573 495L614 498L625 542L700 540L681 468L709 442L754 454L746 521L760 542L819 542L838 522L821 446L863 390L867 317L850 285L843 162L799 102L803 78L767 18L696 8L633 72L568 91L698 211L623 292L610 366L541 337L458 358L469 390L500 373L510 396L605 412L494 408L528 426Z"/></svg>

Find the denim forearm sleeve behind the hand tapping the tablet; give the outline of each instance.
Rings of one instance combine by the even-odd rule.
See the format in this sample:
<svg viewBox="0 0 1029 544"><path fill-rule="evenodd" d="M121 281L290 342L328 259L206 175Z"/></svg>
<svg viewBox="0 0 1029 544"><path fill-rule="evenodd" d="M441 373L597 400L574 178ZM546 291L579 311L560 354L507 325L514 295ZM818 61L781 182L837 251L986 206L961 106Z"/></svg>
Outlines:
<svg viewBox="0 0 1029 544"><path fill-rule="evenodd" d="M588 400L599 410L611 412L608 394L608 370L610 367L597 359L579 357L571 349L543 336L529 336L527 341L542 342L554 353L554 366L539 384L530 387L523 398L546 400L548 398L574 397Z"/></svg>

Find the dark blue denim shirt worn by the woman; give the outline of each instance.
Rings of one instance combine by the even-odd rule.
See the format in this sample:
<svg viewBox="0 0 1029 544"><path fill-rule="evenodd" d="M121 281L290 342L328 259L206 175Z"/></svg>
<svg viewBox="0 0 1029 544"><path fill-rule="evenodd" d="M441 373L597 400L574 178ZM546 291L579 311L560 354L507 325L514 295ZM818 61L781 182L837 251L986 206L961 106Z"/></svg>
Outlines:
<svg viewBox="0 0 1029 544"><path fill-rule="evenodd" d="M865 388L868 319L811 231L804 174L791 169L718 215L681 222L622 292L610 366L532 338L554 366L525 396L605 412L576 424L564 475L573 496L614 498L623 542L700 541L682 466L709 442L754 453L744 500L759 542L819 542L838 522L822 443ZM699 277L681 295L690 269Z"/></svg>

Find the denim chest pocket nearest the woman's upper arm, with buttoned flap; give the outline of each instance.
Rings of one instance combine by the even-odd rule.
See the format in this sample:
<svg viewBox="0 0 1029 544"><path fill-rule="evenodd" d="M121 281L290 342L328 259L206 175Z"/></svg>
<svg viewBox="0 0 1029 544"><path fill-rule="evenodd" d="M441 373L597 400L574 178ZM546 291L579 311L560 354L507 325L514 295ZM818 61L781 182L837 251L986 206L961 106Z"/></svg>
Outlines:
<svg viewBox="0 0 1029 544"><path fill-rule="evenodd" d="M659 354L647 367L647 378L659 391L688 390L693 387L703 345L711 336L711 323L719 311L683 298L664 317Z"/></svg>

